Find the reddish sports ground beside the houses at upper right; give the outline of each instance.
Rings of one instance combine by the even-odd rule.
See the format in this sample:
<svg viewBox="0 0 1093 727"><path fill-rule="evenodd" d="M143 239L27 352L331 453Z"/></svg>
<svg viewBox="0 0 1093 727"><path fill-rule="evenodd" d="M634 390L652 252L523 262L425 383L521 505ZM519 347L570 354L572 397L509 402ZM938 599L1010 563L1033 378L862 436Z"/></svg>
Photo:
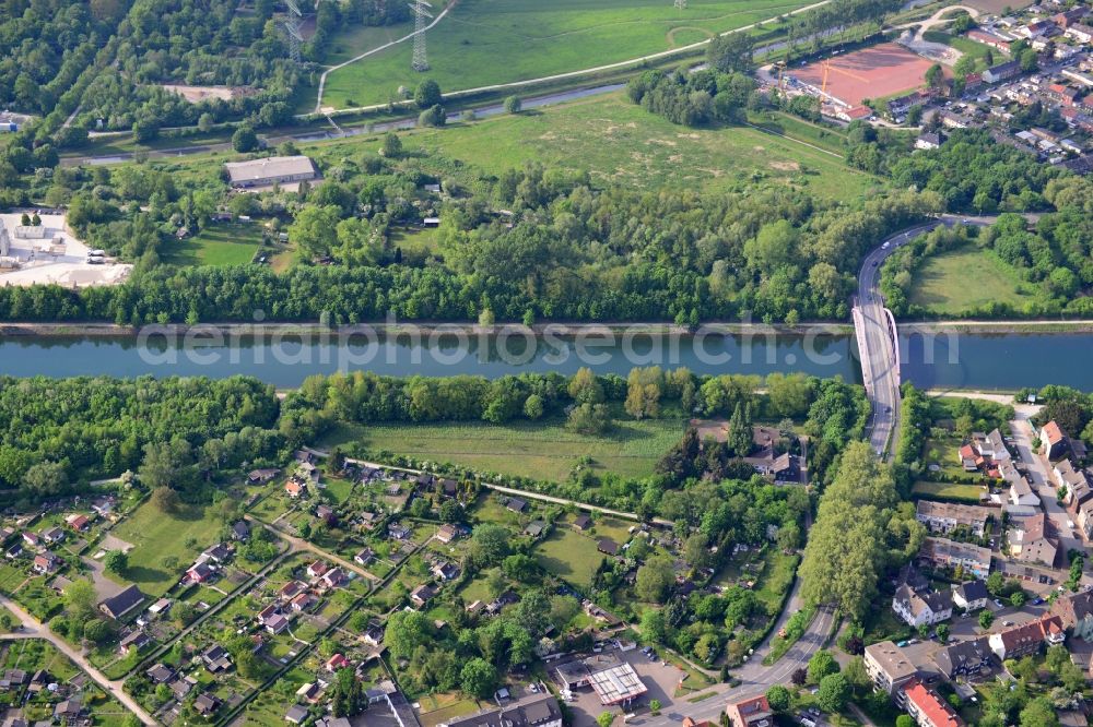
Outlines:
<svg viewBox="0 0 1093 727"><path fill-rule="evenodd" d="M879 46L836 56L827 61L809 63L794 71L798 81L820 88L823 86L823 64L827 74L827 93L848 106L859 106L866 98L886 98L918 88L932 63L903 46L882 43Z"/></svg>

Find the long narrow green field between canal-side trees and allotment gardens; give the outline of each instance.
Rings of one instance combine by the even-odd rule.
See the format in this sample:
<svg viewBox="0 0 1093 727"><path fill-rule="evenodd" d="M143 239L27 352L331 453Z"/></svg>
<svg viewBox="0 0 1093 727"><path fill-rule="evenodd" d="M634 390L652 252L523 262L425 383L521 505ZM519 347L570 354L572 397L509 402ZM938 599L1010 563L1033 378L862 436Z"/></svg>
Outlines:
<svg viewBox="0 0 1093 727"><path fill-rule="evenodd" d="M419 460L450 462L475 469L564 480L578 457L628 477L653 472L653 465L683 434L678 420L619 421L602 437L565 429L561 420L510 425L443 424L343 426L321 443L332 446L363 442L372 451L387 450Z"/></svg>

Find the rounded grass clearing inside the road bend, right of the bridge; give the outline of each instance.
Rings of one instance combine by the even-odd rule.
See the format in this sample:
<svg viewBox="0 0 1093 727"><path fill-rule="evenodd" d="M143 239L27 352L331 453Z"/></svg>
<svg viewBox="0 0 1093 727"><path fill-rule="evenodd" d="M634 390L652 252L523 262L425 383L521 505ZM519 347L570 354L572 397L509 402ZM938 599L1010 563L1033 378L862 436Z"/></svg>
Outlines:
<svg viewBox="0 0 1093 727"><path fill-rule="evenodd" d="M1033 300L1012 267L974 248L930 258L914 277L910 301L940 315L960 315L991 301L1020 309Z"/></svg>

